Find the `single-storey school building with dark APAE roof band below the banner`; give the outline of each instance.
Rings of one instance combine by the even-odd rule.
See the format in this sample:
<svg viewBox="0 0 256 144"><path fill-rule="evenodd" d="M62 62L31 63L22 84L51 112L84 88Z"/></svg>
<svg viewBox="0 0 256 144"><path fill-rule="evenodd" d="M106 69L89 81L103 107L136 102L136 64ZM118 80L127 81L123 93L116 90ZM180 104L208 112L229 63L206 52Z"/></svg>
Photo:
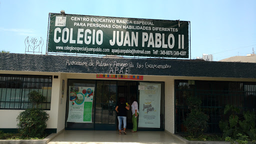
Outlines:
<svg viewBox="0 0 256 144"><path fill-rule="evenodd" d="M46 97L41 106L52 132L117 130L114 107L120 97L131 104L134 96L138 130L180 133L191 95L201 98L208 132L221 132L226 104L255 111L255 72L256 63L245 62L0 53L0 130L17 129L19 112L31 106L27 94L36 90ZM85 102L90 105L81 107Z"/></svg>

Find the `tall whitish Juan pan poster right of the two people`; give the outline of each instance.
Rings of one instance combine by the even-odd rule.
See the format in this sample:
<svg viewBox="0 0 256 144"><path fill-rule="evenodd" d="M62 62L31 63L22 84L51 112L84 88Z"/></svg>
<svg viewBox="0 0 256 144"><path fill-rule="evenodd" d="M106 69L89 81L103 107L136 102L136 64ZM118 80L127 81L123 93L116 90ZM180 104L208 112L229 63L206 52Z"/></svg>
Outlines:
<svg viewBox="0 0 256 144"><path fill-rule="evenodd" d="M138 127L160 128L161 84L140 82L139 87Z"/></svg>

